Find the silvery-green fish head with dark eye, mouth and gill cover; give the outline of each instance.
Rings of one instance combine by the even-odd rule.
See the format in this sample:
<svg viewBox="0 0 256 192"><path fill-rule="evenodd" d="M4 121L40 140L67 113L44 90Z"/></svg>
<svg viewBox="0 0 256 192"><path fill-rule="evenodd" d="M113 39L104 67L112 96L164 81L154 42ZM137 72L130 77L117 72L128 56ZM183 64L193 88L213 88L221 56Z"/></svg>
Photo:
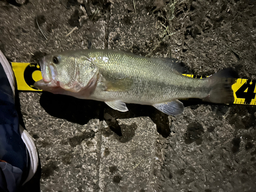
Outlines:
<svg viewBox="0 0 256 192"><path fill-rule="evenodd" d="M95 88L98 68L86 56L75 52L54 53L42 57L39 65L42 79L35 82L36 88L52 93L59 93L60 90L92 92Z"/></svg>

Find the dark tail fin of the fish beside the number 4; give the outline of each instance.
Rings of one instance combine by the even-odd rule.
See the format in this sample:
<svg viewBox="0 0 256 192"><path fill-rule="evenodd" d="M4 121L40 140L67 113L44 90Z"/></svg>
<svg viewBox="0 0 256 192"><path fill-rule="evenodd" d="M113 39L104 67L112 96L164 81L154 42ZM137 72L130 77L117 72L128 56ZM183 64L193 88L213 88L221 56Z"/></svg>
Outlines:
<svg viewBox="0 0 256 192"><path fill-rule="evenodd" d="M213 103L233 103L234 95L232 84L238 78L238 74L232 68L221 70L208 77L210 82L209 96L203 100Z"/></svg>

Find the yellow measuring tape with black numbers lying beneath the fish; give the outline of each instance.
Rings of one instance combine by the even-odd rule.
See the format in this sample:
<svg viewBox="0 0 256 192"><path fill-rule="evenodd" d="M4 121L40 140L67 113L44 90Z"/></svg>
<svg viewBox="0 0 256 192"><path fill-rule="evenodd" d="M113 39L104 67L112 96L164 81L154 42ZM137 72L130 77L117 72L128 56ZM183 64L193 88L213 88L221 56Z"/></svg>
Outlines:
<svg viewBox="0 0 256 192"><path fill-rule="evenodd" d="M42 79L40 66L37 63L12 62L12 69L19 91L41 91L33 87L35 81ZM183 75L192 78L207 77L202 75ZM234 104L256 105L256 80L236 79L236 82L232 85L232 90L234 92Z"/></svg>

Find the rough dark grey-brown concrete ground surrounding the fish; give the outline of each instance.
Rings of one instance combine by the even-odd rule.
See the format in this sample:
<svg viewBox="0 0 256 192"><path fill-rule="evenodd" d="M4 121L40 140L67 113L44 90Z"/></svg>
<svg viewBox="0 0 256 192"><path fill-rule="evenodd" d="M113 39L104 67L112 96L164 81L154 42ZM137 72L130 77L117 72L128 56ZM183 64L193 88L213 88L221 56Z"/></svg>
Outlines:
<svg viewBox="0 0 256 192"><path fill-rule="evenodd" d="M0 1L0 49L10 61L122 49L179 58L194 74L233 67L256 79L255 1L9 3ZM40 155L40 191L255 191L255 106L184 102L172 117L136 104L121 113L50 93L19 97ZM26 187L35 191L33 181Z"/></svg>

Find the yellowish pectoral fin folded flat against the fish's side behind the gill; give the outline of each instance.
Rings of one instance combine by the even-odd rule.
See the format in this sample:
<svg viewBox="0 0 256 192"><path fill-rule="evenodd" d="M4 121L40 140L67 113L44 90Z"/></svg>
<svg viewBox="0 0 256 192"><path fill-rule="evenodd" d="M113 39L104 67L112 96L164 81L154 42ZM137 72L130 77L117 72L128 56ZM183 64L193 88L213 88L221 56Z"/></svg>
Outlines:
<svg viewBox="0 0 256 192"><path fill-rule="evenodd" d="M133 80L131 78L115 79L102 82L106 89L105 91L129 91L131 90Z"/></svg>

